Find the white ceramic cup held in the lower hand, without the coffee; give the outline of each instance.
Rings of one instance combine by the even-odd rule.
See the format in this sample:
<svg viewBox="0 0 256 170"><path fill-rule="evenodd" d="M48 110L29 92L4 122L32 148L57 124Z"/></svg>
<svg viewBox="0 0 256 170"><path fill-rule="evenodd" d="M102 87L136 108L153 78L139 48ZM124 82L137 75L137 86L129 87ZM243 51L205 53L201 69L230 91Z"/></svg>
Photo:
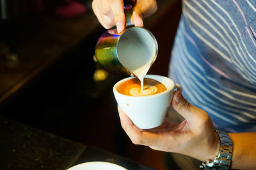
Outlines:
<svg viewBox="0 0 256 170"><path fill-rule="evenodd" d="M174 90L178 89L182 92L182 87L174 83L170 78L147 75L145 78L152 78L163 83L167 90L152 96L126 96L120 94L118 92L119 85L131 78L134 77L120 80L113 87L115 99L120 108L127 114L132 123L140 129L151 129L163 124Z"/></svg>

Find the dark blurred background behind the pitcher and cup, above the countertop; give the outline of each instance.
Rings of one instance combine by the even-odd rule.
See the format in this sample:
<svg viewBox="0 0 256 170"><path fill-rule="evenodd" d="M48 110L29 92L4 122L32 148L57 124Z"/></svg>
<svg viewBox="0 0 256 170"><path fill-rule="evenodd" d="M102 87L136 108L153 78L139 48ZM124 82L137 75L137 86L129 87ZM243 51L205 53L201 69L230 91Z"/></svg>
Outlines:
<svg viewBox="0 0 256 170"><path fill-rule="evenodd" d="M112 87L124 76L107 73L93 57L105 30L93 15L92 1L0 3L0 114L166 169L164 153L133 145L120 126ZM148 74L167 76L181 2L157 3L144 24L159 46Z"/></svg>

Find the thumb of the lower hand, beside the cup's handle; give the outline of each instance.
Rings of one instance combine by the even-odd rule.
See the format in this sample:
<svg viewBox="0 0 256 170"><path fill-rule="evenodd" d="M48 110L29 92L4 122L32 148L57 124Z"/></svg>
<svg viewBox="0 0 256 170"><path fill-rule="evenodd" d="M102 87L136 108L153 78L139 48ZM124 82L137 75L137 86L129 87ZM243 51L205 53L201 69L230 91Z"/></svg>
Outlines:
<svg viewBox="0 0 256 170"><path fill-rule="evenodd" d="M172 107L188 122L193 121L193 106L182 96L179 90L173 93Z"/></svg>

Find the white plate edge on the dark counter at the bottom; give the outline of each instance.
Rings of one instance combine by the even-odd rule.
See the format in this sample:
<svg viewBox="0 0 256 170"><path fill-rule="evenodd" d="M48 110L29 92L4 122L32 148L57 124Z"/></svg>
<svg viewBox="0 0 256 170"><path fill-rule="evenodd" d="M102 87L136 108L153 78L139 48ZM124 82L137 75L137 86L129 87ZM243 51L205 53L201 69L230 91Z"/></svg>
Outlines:
<svg viewBox="0 0 256 170"><path fill-rule="evenodd" d="M127 170L122 166L109 162L85 162L76 166L70 167L67 170Z"/></svg>

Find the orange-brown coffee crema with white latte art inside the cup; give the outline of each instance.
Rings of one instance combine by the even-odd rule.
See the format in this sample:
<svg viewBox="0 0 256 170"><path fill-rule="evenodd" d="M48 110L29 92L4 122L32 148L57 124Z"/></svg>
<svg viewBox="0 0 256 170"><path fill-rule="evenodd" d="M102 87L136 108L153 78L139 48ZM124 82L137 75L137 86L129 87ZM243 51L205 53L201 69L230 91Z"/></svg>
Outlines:
<svg viewBox="0 0 256 170"><path fill-rule="evenodd" d="M140 80L131 78L119 85L118 92L127 96L150 96L167 90L163 83L151 78L144 78L143 84L143 90L141 90Z"/></svg>

